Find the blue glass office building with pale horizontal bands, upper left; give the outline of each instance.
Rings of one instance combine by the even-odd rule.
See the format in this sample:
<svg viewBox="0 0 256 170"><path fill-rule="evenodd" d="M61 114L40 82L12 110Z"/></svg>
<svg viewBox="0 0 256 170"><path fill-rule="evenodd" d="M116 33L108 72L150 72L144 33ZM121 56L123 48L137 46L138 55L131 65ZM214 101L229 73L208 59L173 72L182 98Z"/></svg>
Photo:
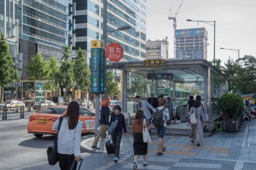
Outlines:
<svg viewBox="0 0 256 170"><path fill-rule="evenodd" d="M61 47L68 45L69 0L23 0L22 39L37 42L43 56L63 56Z"/></svg>

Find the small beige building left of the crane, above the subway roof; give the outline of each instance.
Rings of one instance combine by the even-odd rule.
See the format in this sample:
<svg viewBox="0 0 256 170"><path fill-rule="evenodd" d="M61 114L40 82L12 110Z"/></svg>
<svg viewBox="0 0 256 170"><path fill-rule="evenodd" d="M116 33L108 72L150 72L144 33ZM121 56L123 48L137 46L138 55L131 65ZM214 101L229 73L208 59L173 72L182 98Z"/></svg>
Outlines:
<svg viewBox="0 0 256 170"><path fill-rule="evenodd" d="M169 42L167 37L164 40L148 40L147 41L147 59L168 59Z"/></svg>

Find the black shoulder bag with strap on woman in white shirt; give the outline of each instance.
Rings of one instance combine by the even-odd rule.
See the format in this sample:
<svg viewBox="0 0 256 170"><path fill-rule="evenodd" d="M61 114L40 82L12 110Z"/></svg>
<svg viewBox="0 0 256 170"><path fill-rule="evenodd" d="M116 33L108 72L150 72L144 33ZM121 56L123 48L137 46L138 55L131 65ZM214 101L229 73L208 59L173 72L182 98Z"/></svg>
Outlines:
<svg viewBox="0 0 256 170"><path fill-rule="evenodd" d="M61 128L62 120L63 120L63 117L60 117L59 118L59 124L58 124L57 136L55 138L55 141L53 142L53 145L49 146L47 148L47 158L48 158L49 165L55 165L59 161L57 141L58 141L58 134L59 134L59 129Z"/></svg>

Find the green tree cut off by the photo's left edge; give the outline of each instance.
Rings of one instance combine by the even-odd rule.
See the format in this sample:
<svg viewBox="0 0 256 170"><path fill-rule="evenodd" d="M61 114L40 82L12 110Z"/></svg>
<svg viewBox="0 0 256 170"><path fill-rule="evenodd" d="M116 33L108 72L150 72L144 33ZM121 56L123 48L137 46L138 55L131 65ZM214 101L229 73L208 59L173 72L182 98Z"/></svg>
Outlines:
<svg viewBox="0 0 256 170"><path fill-rule="evenodd" d="M9 53L9 44L3 40L5 36L1 34L0 38L0 86L1 94L3 94L3 86L8 85L12 81L18 80L18 72L13 68L12 56ZM3 96L1 95L1 101Z"/></svg>

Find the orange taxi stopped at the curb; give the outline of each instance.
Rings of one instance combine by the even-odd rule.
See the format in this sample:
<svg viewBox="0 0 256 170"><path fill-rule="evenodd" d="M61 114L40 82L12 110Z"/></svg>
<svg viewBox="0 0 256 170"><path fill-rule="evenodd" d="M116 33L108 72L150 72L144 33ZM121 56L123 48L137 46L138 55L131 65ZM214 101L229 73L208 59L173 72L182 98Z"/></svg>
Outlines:
<svg viewBox="0 0 256 170"><path fill-rule="evenodd" d="M28 121L28 133L33 133L37 138L44 134L57 134L57 131L52 130L52 126L66 110L67 105L55 105L32 114ZM95 116L90 110L80 108L79 120L83 124L82 134L94 131Z"/></svg>

